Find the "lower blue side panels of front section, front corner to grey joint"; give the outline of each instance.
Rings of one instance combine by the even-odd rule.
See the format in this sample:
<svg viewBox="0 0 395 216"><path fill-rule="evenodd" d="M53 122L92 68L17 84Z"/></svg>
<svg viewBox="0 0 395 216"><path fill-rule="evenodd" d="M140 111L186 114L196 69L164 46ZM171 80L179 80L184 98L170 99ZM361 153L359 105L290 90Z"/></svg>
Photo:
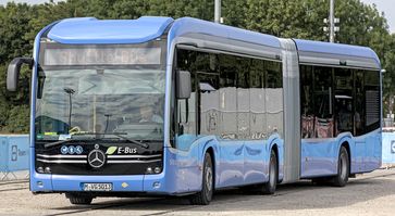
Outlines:
<svg viewBox="0 0 395 216"><path fill-rule="evenodd" d="M273 135L268 140L221 140L217 136L183 135L178 149L168 149L166 188L177 193L201 190L205 153L213 151L215 188L268 181L270 150L279 149L279 175L283 177L283 140ZM171 183L173 182L173 183ZM150 183L148 183L149 187Z"/></svg>

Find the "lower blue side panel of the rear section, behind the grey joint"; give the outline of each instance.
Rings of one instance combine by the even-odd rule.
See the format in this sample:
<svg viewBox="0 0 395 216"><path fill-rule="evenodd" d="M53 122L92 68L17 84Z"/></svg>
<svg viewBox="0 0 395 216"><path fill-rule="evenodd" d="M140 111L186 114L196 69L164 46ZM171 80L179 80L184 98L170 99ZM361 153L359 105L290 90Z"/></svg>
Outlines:
<svg viewBox="0 0 395 216"><path fill-rule="evenodd" d="M381 129L360 137L349 132L337 138L301 140L301 178L333 176L337 174L341 144L347 142L350 150L350 173L372 171L381 166Z"/></svg>

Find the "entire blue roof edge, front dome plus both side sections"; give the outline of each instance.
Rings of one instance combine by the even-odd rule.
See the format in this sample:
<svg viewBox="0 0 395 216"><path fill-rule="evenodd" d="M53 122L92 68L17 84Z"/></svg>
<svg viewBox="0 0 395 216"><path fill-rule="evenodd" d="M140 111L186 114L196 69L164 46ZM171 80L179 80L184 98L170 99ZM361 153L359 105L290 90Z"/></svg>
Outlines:
<svg viewBox="0 0 395 216"><path fill-rule="evenodd" d="M192 17L175 21L162 16L141 16L137 20L66 18L49 30L48 38L70 45L140 43L160 37L172 23L170 38L198 34L274 49L281 48L280 39L274 36ZM380 67L380 60L370 48L300 39L294 41L301 53L369 59Z"/></svg>

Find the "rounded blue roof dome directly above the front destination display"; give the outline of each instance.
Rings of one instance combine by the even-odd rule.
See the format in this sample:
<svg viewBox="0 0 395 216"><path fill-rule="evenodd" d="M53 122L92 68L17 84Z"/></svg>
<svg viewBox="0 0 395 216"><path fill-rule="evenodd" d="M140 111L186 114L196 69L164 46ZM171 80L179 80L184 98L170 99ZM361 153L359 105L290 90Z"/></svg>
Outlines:
<svg viewBox="0 0 395 216"><path fill-rule="evenodd" d="M141 43L160 37L173 22L170 17L137 20L66 18L54 25L48 38L69 45Z"/></svg>

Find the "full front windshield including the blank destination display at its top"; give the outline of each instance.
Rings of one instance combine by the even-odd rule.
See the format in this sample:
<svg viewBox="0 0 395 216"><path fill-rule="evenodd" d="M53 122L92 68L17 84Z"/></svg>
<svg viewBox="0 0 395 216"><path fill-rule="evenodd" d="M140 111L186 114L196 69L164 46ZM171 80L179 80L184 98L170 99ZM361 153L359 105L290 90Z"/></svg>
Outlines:
<svg viewBox="0 0 395 216"><path fill-rule="evenodd" d="M127 48L67 47L41 52L36 139L122 135L127 139L162 140L163 54L160 47Z"/></svg>

